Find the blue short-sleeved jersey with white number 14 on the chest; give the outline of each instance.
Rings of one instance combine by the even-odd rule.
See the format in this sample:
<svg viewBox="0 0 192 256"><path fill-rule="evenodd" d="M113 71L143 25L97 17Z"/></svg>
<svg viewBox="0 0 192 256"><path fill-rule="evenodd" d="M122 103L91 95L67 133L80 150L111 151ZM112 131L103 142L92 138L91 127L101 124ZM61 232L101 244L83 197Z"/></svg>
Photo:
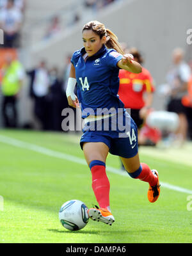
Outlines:
<svg viewBox="0 0 192 256"><path fill-rule="evenodd" d="M85 49L82 48L74 52L71 60L76 68L77 97L81 103L82 117L97 115L97 109L124 108L117 95L117 63L122 59L122 54L114 49L107 49L104 45L86 61L83 59L85 53ZM89 113L88 108L93 109L93 113Z"/></svg>

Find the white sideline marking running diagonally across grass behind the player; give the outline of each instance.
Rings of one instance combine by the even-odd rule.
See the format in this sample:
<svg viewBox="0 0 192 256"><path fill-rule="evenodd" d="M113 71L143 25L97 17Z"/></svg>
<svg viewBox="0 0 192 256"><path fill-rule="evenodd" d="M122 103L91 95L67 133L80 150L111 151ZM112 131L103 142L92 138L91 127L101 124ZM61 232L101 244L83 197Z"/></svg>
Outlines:
<svg viewBox="0 0 192 256"><path fill-rule="evenodd" d="M75 163L87 165L86 161L84 159L81 159L80 157L71 156L69 154L54 151L54 150L51 150L49 148L44 148L44 147L40 147L40 146L35 145L35 144L27 143L27 142L20 141L20 140L15 140L15 139L7 137L7 136L0 135L0 142L1 143L6 143L6 144L9 144L9 145L13 145L15 147L20 147L20 148L26 148L26 149L29 149L29 150L33 150L34 152L38 152L40 154L44 154L44 155L47 155L47 156L57 157L57 158L60 158L60 159L65 159L67 161L72 161L72 162L75 162ZM127 173L122 172L121 170L113 168L111 166L108 166L106 168L106 170L108 170L111 173L115 173L115 174L118 174L118 175L129 177L129 175ZM180 188L178 186L173 186L172 184L168 184L166 182L161 182L161 185L164 188L168 188L168 189L172 189L174 191L179 191L179 192L182 192L182 193L187 193L188 195L192 195L192 190L189 190L189 189Z"/></svg>

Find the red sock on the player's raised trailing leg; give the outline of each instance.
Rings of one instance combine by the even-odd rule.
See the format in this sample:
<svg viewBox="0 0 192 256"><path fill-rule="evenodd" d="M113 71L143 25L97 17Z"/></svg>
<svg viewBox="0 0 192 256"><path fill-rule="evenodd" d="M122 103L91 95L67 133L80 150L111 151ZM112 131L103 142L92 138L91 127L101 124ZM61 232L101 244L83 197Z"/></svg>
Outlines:
<svg viewBox="0 0 192 256"><path fill-rule="evenodd" d="M148 182L150 186L156 186L158 178L156 175L154 175L154 173L152 173L148 165L145 163L141 163L141 168L141 173L138 177L136 177L136 179Z"/></svg>

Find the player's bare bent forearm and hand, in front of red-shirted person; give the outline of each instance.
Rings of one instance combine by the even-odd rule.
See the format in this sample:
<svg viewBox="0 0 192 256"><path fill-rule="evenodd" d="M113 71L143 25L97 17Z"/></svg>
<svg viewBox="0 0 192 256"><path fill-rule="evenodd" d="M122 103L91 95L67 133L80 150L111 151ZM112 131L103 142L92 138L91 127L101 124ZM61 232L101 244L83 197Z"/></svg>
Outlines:
<svg viewBox="0 0 192 256"><path fill-rule="evenodd" d="M118 61L117 65L119 68L136 74L142 70L140 63L133 60L132 54L124 54L122 60Z"/></svg>

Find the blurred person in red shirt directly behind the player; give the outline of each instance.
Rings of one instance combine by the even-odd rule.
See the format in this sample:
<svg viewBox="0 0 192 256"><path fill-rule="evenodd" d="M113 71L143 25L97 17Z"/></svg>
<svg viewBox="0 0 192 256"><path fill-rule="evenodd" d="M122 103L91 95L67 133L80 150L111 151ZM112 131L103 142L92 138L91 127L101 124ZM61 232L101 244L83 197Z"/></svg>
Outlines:
<svg viewBox="0 0 192 256"><path fill-rule="evenodd" d="M136 48L128 50L138 63L143 63L143 58ZM124 102L125 108L131 114L138 130L143 125L148 109L151 108L153 93L155 91L153 79L150 72L142 67L140 74L133 74L127 70L119 72L120 86L118 95ZM140 141L138 141L140 144Z"/></svg>

